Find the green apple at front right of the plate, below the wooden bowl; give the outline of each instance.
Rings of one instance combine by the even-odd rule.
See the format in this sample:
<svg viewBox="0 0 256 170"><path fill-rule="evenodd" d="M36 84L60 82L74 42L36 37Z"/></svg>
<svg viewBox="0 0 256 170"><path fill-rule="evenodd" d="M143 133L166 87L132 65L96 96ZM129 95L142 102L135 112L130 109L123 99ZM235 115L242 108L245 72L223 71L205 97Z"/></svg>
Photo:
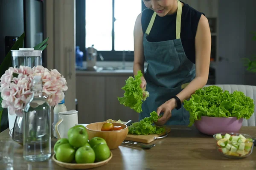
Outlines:
<svg viewBox="0 0 256 170"><path fill-rule="evenodd" d="M95 161L104 161L109 158L110 156L110 149L107 144L100 143L96 144L93 147L94 153L95 153Z"/></svg>

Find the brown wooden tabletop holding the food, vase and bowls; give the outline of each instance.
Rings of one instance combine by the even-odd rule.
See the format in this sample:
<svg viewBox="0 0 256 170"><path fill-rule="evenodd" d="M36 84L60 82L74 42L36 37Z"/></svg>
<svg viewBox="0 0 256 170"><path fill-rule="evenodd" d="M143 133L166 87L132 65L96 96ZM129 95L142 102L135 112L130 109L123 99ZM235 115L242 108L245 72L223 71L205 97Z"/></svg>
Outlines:
<svg viewBox="0 0 256 170"><path fill-rule="evenodd" d="M255 170L256 151L249 157L229 160L215 149L212 136L199 133L195 127L170 126L169 135L152 143L150 150L140 147L119 146L111 150L113 158L108 164L95 170ZM256 137L256 127L242 127L241 133ZM12 141L9 129L0 133L0 140ZM52 147L56 139L52 139ZM253 148L254 149L254 148ZM28 162L22 157L23 147L15 143L15 170L67 170L52 159L44 162ZM53 149L52 149L52 153ZM2 170L0 165L0 170Z"/></svg>

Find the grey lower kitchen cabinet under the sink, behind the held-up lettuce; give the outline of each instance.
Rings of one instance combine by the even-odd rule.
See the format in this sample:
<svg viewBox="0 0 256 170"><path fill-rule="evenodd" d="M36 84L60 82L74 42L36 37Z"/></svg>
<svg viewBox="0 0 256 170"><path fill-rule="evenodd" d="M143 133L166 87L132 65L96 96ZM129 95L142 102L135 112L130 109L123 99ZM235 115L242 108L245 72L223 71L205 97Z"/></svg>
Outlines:
<svg viewBox="0 0 256 170"><path fill-rule="evenodd" d="M121 88L129 76L133 74L77 74L76 97L79 123L102 122L107 119L137 122L139 113L121 105L117 99L118 96L123 96L125 91Z"/></svg>

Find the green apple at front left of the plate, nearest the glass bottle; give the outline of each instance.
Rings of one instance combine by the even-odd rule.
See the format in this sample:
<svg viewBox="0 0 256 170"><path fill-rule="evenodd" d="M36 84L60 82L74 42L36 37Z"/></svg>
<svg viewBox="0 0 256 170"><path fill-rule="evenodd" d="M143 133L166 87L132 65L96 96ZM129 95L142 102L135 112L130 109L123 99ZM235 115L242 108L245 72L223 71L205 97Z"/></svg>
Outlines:
<svg viewBox="0 0 256 170"><path fill-rule="evenodd" d="M56 159L70 163L75 159L76 150L69 144L61 144L56 151Z"/></svg>

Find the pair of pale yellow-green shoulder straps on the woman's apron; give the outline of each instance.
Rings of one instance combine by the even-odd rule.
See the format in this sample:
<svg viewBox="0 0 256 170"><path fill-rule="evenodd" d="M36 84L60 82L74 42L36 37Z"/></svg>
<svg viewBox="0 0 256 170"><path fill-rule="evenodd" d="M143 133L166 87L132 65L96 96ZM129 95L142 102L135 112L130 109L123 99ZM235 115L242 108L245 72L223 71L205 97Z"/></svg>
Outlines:
<svg viewBox="0 0 256 170"><path fill-rule="evenodd" d="M178 2L178 9L177 9L177 17L176 17L176 39L180 39L180 25L181 25L181 13L182 13L182 4L179 0L177 0ZM148 28L146 30L146 34L148 35L151 31L151 28L154 24L154 20L156 18L156 15L157 13L154 12L152 17L151 17L151 20L148 24Z"/></svg>

